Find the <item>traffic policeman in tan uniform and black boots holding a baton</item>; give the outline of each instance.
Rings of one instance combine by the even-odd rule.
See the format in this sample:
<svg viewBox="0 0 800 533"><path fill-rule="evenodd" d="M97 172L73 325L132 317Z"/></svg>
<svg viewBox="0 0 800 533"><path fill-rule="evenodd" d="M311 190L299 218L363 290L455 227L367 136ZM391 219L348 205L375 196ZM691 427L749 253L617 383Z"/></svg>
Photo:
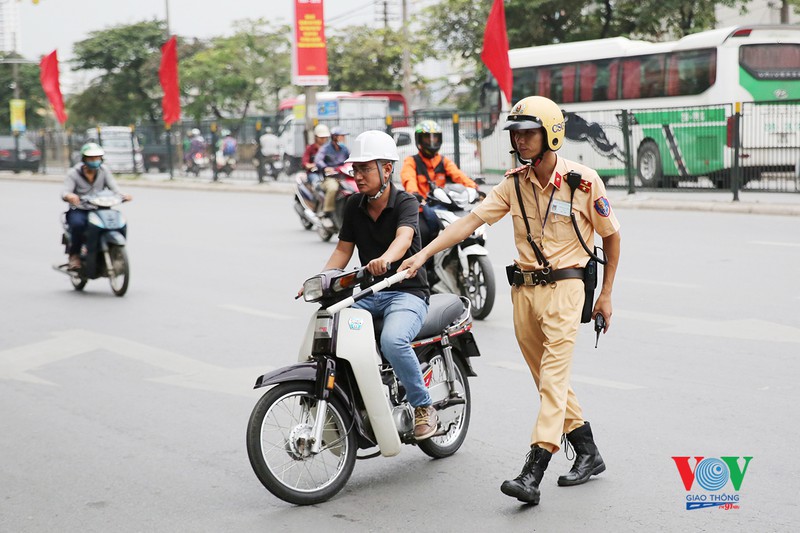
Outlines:
<svg viewBox="0 0 800 533"><path fill-rule="evenodd" d="M531 504L539 503L539 484L552 454L559 450L562 434L576 457L570 472L558 478L560 486L585 483L606 468L570 386L570 371L586 298L584 267L590 260L578 231L584 242L594 242L595 232L603 241L603 286L591 316L601 314L608 331L619 262L619 222L597 172L556 154L564 141L564 127L564 115L553 101L541 96L520 100L504 129L510 132L522 166L509 170L481 205L400 266L413 275L436 252L461 242L481 224L494 224L511 213L519 255L509 268L514 330L541 408L522 471L504 481L501 490ZM580 174L577 181L574 173Z"/></svg>

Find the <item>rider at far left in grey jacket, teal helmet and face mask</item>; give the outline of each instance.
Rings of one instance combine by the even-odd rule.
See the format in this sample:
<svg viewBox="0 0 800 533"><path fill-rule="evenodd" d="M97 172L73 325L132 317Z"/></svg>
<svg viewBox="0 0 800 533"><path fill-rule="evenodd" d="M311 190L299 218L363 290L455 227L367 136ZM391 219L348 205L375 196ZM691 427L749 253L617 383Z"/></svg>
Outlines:
<svg viewBox="0 0 800 533"><path fill-rule="evenodd" d="M69 202L67 225L69 226L71 245L69 249L69 270L81 269L81 247L85 241L89 211L94 207L81 202L81 196L103 189L110 189L129 202L133 197L122 194L111 171L103 165L105 151L96 143L86 143L81 148L81 162L67 171L61 199Z"/></svg>

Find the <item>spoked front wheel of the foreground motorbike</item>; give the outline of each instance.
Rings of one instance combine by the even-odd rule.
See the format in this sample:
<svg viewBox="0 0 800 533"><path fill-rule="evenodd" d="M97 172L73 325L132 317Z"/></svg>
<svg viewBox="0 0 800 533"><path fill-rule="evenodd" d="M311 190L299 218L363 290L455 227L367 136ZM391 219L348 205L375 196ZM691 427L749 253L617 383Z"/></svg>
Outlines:
<svg viewBox="0 0 800 533"><path fill-rule="evenodd" d="M331 395L324 414L322 447L310 449L317 413L313 384L282 383L256 403L247 424L247 455L259 481L281 500L312 505L344 487L358 448L350 414Z"/></svg>

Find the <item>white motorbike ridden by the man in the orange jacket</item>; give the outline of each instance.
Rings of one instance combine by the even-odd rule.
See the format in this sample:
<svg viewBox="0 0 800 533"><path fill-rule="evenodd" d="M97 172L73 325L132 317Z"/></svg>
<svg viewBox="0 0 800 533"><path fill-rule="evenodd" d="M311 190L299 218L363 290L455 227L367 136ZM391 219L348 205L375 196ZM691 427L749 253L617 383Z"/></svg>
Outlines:
<svg viewBox="0 0 800 533"><path fill-rule="evenodd" d="M458 183L434 189L427 199L443 228L466 216L479 201L477 190ZM438 252L426 264L431 290L466 296L478 320L489 316L495 296L494 270L485 245L486 226L482 225L463 242Z"/></svg>

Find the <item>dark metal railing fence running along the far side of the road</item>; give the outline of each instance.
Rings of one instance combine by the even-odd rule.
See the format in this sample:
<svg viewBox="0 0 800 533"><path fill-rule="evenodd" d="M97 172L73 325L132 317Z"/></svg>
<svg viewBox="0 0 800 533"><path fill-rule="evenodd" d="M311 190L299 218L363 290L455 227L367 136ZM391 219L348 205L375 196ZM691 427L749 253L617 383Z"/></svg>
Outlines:
<svg viewBox="0 0 800 533"><path fill-rule="evenodd" d="M609 187L800 192L800 101L744 103L740 108L723 104L566 111L559 154L597 170ZM349 134L345 144L368 129L386 131L394 137L402 160L416 153L414 125L424 119L442 126L441 153L470 176L497 183L516 164L509 155L508 133L498 127L505 119L502 115L428 110L393 120L371 117L321 123L344 128ZM266 127L280 135L285 159L292 163L289 168L298 169L306 143L305 125L279 124L276 117L266 116L237 122L187 122L169 132L138 127L132 132L136 146L131 149L140 151L143 166L136 171L168 172L171 161L174 177L186 176L183 157L191 129L200 129L209 146L215 146L222 130L229 129L238 140L238 150L236 170L226 177L255 181L259 178L257 139ZM41 152L41 171L62 173L77 162L88 135L91 131L38 131L25 137ZM290 148L291 144L295 146ZM0 149L0 156L3 152ZM213 150L209 152L213 159ZM215 179L212 170L201 177ZM283 175L281 179L290 178Z"/></svg>

